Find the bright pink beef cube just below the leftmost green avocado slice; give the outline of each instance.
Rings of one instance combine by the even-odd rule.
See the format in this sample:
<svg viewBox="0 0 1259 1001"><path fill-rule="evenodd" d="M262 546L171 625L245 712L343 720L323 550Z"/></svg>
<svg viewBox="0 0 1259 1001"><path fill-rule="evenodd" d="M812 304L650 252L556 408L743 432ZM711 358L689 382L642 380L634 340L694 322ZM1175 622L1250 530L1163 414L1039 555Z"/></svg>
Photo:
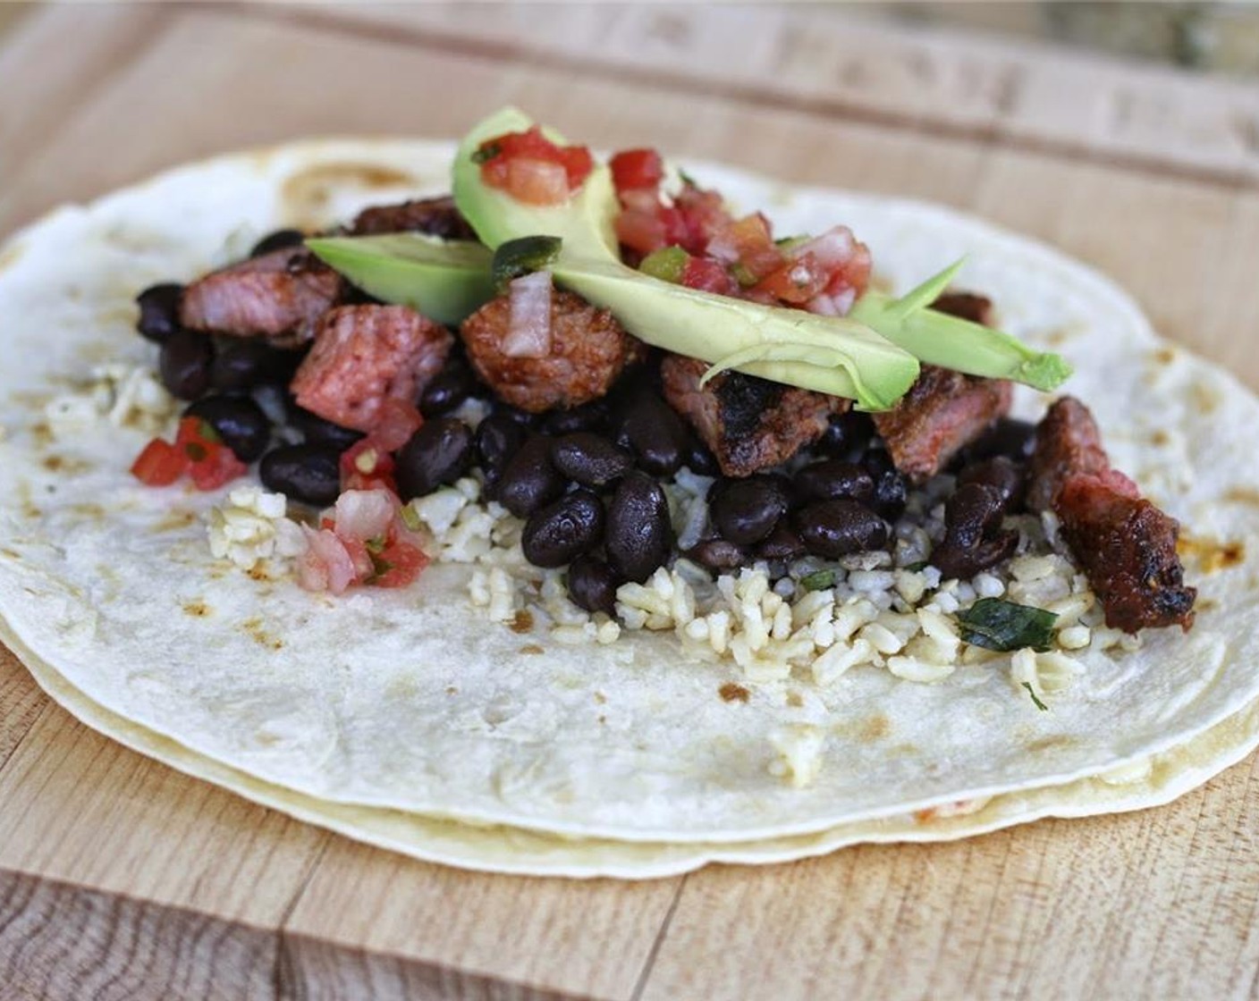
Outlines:
<svg viewBox="0 0 1259 1001"><path fill-rule="evenodd" d="M453 342L408 306L339 306L324 315L291 389L325 421L371 431L387 398L414 404Z"/></svg>

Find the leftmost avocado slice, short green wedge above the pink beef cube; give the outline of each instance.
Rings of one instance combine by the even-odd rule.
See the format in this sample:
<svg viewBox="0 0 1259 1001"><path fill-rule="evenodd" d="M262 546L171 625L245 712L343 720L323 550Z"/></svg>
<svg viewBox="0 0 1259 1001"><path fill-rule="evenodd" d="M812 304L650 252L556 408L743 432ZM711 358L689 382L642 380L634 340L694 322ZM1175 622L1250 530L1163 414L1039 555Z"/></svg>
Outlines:
<svg viewBox="0 0 1259 1001"><path fill-rule="evenodd" d="M320 237L306 246L324 263L385 302L456 326L495 296L490 251L475 240L423 233Z"/></svg>

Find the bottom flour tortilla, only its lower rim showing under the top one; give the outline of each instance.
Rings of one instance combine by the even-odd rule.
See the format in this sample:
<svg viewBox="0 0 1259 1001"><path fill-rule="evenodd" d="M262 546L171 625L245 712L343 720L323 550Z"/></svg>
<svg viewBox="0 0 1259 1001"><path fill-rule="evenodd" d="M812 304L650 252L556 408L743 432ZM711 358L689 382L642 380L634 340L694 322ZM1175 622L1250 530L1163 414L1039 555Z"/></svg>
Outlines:
<svg viewBox="0 0 1259 1001"><path fill-rule="evenodd" d="M213 782L262 806L376 847L429 862L509 875L569 879L658 879L711 862L772 865L826 855L860 844L956 841L1045 817L1122 813L1168 803L1245 758L1259 734L1259 703L1199 734L1187 744L1107 777L1081 778L993 797L963 816L913 813L855 821L811 835L760 841L656 844L546 835L502 825L470 825L398 810L346 806L261 782L201 757L103 709L0 628L31 674L82 723L185 774Z"/></svg>

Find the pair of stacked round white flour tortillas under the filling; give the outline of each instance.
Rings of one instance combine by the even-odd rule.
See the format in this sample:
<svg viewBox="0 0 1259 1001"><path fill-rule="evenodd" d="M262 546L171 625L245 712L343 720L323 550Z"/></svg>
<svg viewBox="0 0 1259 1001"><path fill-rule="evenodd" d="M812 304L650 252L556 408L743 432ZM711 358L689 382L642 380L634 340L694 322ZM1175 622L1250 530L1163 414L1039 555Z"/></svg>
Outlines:
<svg viewBox="0 0 1259 1001"><path fill-rule="evenodd" d="M1008 672L923 685L855 669L827 689L754 687L670 635L570 647L486 622L467 567L410 589L312 596L209 553L220 495L140 486L149 437L103 418L49 428L50 402L106 363L152 365L136 292L190 280L285 225L447 189L448 144L329 141L222 157L87 208L0 251L0 638L82 720L190 774L353 837L477 869L653 876L860 841L943 840L1042 816L1151 806L1259 743L1254 636L1259 402L1158 341L1083 266L935 206L792 189L690 166L779 233L842 222L906 288L962 254L1002 322L1064 353L1115 465L1196 539L1199 622L1087 672L1039 711ZM1024 416L1044 400L1027 393ZM544 655L524 643L545 646ZM876 720L876 727L866 725ZM816 779L771 774L771 734L825 729ZM983 801L952 816L951 805Z"/></svg>

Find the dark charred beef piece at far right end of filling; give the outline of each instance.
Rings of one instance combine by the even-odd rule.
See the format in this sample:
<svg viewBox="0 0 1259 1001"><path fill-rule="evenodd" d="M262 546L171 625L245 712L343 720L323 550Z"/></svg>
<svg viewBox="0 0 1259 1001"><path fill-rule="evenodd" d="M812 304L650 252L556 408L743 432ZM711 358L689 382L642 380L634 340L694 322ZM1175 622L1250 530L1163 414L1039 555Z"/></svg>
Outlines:
<svg viewBox="0 0 1259 1001"><path fill-rule="evenodd" d="M1124 632L1147 626L1188 631L1197 591L1185 587L1176 519L1095 476L1068 477L1054 510L1063 538L1105 609L1107 626Z"/></svg>

